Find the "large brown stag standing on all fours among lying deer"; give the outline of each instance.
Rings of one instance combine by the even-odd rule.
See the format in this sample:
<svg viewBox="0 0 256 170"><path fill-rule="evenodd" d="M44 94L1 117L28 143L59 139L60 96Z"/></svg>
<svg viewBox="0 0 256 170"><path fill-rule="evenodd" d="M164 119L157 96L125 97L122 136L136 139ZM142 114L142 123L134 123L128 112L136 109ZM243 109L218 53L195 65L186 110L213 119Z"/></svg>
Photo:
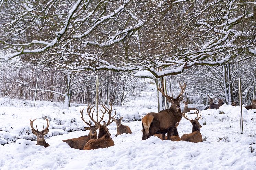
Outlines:
<svg viewBox="0 0 256 170"><path fill-rule="evenodd" d="M154 136L155 133L161 133L162 139L165 139L165 134L167 132L167 139L171 139L171 133L173 131L173 128L175 127L175 124L179 121L181 121L181 108L180 108L180 102L183 99L183 93L185 92L186 84L184 83L184 86L179 84L181 87L181 93L177 96L177 98L167 96L163 88L159 91L161 91L162 95L166 97L168 102L171 102L171 107L166 110L162 110L158 113L151 112L148 113L146 116L142 119L142 140L148 139L150 136Z"/></svg>

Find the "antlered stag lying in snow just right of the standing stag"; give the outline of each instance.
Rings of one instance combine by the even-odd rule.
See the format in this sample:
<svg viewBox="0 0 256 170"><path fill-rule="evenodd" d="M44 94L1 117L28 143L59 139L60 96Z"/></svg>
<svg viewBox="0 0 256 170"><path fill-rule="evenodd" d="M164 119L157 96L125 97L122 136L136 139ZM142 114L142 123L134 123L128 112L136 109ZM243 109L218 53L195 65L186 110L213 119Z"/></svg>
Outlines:
<svg viewBox="0 0 256 170"><path fill-rule="evenodd" d="M184 134L181 136L181 140L182 141L188 141L188 142L202 142L203 138L202 138L202 134L200 133L200 128L202 127L200 125L200 123L198 122L199 119L201 119L202 114L200 115L200 117L198 117L199 112L195 112L197 114L197 118L193 119L188 119L187 114L183 113L182 116L189 120L192 123L192 133L190 134Z"/></svg>

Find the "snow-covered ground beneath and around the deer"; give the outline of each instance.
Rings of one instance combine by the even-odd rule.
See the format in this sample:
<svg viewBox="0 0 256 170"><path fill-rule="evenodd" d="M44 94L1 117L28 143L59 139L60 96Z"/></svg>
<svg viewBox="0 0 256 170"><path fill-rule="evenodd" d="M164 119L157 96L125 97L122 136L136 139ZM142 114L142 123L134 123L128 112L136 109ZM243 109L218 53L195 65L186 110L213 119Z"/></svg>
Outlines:
<svg viewBox="0 0 256 170"><path fill-rule="evenodd" d="M134 120L148 112L156 112L156 106L113 106L117 117L123 116L123 124L131 128L132 134L115 137L116 124L113 122L108 128L115 146L83 151L70 148L62 140L88 134L88 131L81 131L85 123L79 109L85 106L62 109L57 103L37 101L37 107L31 103L0 99L1 170L256 169L256 114L253 110L243 110L243 134L240 133L239 107L223 105L218 110L201 111L206 121L201 128L204 141L191 143L161 141L154 136L141 141L142 124ZM50 144L47 148L36 145L29 121L37 118L34 124L40 130L46 125L43 117L50 120L50 131L45 137ZM86 114L84 117L86 120ZM203 124L204 120L199 122ZM183 118L178 126L179 135L191 133L191 129L191 123Z"/></svg>

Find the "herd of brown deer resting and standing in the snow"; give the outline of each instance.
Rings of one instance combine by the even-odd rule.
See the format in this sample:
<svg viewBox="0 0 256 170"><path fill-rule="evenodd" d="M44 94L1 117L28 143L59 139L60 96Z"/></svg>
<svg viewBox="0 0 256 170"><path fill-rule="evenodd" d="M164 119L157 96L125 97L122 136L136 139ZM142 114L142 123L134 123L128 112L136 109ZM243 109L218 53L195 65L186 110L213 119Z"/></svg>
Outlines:
<svg viewBox="0 0 256 170"><path fill-rule="evenodd" d="M167 101L171 103L171 107L162 110L158 113L155 112L150 112L146 114L142 118L142 140L148 139L150 136L157 136L162 140L171 140L171 141L189 141L189 142L202 142L202 135L200 133L200 128L202 127L200 123L198 122L199 119L201 119L202 115L200 113L199 116L199 110L196 108L188 108L188 102L183 101L183 93L185 92L186 84L182 86L179 84L181 87L181 93L174 98L173 95L168 96L164 93L163 88L158 90L162 93L163 96L166 97ZM223 105L223 101L221 99L218 99L219 102L218 104L213 103L213 99L210 99L210 108L211 109L217 109L221 105ZM185 104L183 113L181 112L180 108L180 102L183 101ZM256 100L253 100L253 104L250 106L247 106L249 108L256 108ZM86 122L83 117L83 110L80 109L80 114L81 114L81 119L84 121L86 125L89 127L85 127L85 130L90 130L89 134L86 136L80 136L78 138L72 138L72 139L67 139L63 140L63 142L66 142L71 148L74 149L80 149L80 150L91 150L91 149L98 149L98 148L106 148L110 146L114 146L114 141L110 137L111 134L108 131L107 126L110 125L113 121L116 122L117 125L117 133L115 136L118 136L123 133L132 133L131 129L128 126L122 125L121 120L123 117L120 119L115 119L115 114L112 116L112 105L110 105L110 109L107 108L104 105L101 105L101 107L104 109L104 111L101 110L102 112L102 117L100 121L95 121L93 119L93 113L91 115L91 110L93 106L88 105L87 107L87 114L89 116L89 122ZM187 113L190 112L191 110L195 110L196 118L188 118ZM105 122L103 121L104 115L108 113L108 121ZM192 133L190 134L184 134L179 137L177 127L179 125L179 122L181 121L181 118L184 117L185 119L189 120L192 124ZM37 126L36 129L33 128L33 121L30 120L30 126L32 128L32 133L37 136L37 145L42 145L44 147L50 146L48 143L46 143L44 136L49 132L49 125L50 122L48 119L46 119L47 122L47 127L42 131L38 131ZM91 124L92 120L94 122L94 125ZM102 122L102 124L101 124ZM98 130L98 136L97 136L97 131ZM167 133L167 136L165 135Z"/></svg>

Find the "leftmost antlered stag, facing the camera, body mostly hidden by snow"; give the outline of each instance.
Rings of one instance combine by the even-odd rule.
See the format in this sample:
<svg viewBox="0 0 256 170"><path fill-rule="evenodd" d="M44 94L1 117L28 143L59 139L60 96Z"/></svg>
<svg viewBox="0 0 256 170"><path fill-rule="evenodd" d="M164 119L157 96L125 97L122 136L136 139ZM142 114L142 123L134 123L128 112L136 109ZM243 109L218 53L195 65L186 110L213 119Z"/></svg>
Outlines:
<svg viewBox="0 0 256 170"><path fill-rule="evenodd" d="M36 135L36 137L37 137L36 145L41 145L41 146L44 146L44 147L50 146L48 143L45 142L45 139L44 139L44 136L49 132L48 128L49 128L49 125L50 125L50 121L48 119L45 119L46 122L47 122L47 127L44 129L44 126L43 126L43 130L42 131L38 131L37 125L36 125L36 130L33 128L33 122L35 120L33 120L33 121L30 120L30 126L31 126L32 133L34 135Z"/></svg>

